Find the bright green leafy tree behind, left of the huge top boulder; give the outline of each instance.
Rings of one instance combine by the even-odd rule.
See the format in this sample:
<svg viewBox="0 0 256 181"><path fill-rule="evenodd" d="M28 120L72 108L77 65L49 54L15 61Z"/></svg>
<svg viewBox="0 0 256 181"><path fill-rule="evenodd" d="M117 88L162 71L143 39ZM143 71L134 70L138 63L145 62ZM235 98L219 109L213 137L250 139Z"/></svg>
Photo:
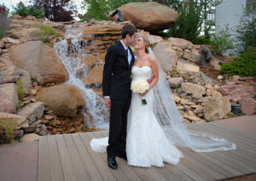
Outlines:
<svg viewBox="0 0 256 181"><path fill-rule="evenodd" d="M87 12L84 15L79 15L79 17L86 21L90 21L92 18L95 20L108 20L108 13L110 11L131 2L145 2L145 0L84 0L83 4Z"/></svg>

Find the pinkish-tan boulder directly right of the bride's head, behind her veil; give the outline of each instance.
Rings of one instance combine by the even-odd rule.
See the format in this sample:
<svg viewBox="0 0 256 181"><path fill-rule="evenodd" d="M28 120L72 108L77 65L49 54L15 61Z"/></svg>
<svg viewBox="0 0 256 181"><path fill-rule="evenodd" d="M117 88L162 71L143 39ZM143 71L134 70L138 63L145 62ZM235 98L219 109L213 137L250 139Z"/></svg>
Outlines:
<svg viewBox="0 0 256 181"><path fill-rule="evenodd" d="M170 42L157 43L153 48L153 52L163 68L163 71L172 71L173 66L176 66L178 57L175 50L172 49Z"/></svg>

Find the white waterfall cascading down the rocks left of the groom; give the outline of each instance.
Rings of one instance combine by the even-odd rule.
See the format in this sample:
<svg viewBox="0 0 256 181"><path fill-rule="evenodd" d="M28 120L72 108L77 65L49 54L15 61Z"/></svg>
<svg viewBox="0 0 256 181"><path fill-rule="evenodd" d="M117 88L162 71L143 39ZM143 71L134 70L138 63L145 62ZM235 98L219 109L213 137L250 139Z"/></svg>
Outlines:
<svg viewBox="0 0 256 181"><path fill-rule="evenodd" d="M87 54L84 52L84 46L87 43L82 40L82 36L81 30L74 30L70 25L66 30L65 39L55 43L54 50L68 71L69 79L66 83L76 85L83 94L83 99L86 102L83 110L84 117L86 120L91 120L87 121L86 126L93 127L95 125L99 129L108 129L109 113L104 101L92 89L86 88L82 80L79 79L83 76L85 80L89 69L86 68L81 74L77 74L77 69L84 67L81 58ZM70 47L68 47L67 38L72 38Z"/></svg>

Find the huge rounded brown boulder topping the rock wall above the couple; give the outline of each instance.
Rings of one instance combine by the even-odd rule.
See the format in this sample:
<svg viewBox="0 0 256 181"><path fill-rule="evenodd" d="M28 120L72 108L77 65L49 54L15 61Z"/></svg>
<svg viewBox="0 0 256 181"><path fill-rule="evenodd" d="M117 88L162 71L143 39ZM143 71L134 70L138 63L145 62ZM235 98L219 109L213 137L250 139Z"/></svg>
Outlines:
<svg viewBox="0 0 256 181"><path fill-rule="evenodd" d="M131 21L137 28L145 31L157 32L168 29L179 17L177 11L154 2L128 3L118 9L122 11L124 20ZM109 15L113 11L110 11Z"/></svg>

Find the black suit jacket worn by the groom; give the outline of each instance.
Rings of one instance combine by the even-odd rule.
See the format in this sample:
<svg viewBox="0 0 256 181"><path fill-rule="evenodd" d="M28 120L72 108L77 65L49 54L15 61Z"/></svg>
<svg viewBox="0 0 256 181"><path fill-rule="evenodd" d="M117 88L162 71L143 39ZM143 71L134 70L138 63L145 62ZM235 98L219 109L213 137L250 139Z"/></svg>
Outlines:
<svg viewBox="0 0 256 181"><path fill-rule="evenodd" d="M132 54L131 48L129 50ZM133 64L134 55L132 54L129 66L128 57L121 41L108 48L102 80L103 96L121 100L131 98L131 68Z"/></svg>

